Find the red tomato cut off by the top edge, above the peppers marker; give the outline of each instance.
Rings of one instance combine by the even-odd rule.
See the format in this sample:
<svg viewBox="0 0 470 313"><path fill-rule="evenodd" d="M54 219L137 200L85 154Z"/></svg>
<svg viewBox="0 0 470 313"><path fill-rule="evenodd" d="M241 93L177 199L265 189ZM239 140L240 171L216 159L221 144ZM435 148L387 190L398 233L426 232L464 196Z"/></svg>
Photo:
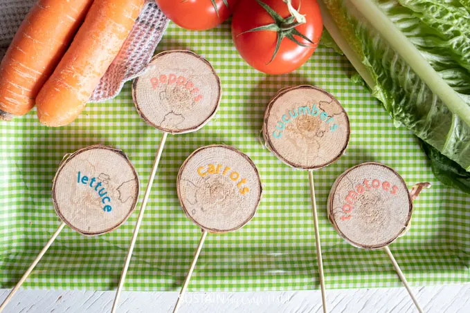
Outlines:
<svg viewBox="0 0 470 313"><path fill-rule="evenodd" d="M238 0L155 0L160 10L177 23L190 30L207 30L219 26L230 17ZM217 15L218 11L218 15Z"/></svg>

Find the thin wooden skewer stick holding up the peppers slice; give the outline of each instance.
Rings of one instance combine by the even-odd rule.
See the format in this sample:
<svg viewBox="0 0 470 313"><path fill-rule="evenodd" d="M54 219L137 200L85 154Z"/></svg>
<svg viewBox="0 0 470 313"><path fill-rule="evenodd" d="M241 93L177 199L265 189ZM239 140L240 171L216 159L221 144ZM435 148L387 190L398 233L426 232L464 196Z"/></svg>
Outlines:
<svg viewBox="0 0 470 313"><path fill-rule="evenodd" d="M118 301L119 301L120 293L123 290L123 285L124 285L124 282L125 282L127 269L129 269L129 263L131 262L132 252L134 251L134 245L136 244L138 231L141 228L141 223L142 223L142 220L143 220L143 214L145 212L145 207L147 207L147 201L149 200L150 190L152 189L152 184L154 183L156 169L158 169L158 167L159 167L161 154L163 153L163 147L165 146L165 141L166 141L167 137L168 137L168 133L163 132L163 137L161 137L159 150L156 151L154 167L152 167L152 173L150 174L150 178L149 178L149 181L147 183L147 189L145 189L145 195L144 195L143 200L142 200L141 211L138 212L136 227L134 228L134 234L132 234L131 245L129 246L129 251L127 252L126 260L125 260L124 267L123 267L123 272L120 276L118 290L116 291L116 296L114 297L113 308L111 310L112 313L115 313L116 310L117 310L117 307L118 307Z"/></svg>

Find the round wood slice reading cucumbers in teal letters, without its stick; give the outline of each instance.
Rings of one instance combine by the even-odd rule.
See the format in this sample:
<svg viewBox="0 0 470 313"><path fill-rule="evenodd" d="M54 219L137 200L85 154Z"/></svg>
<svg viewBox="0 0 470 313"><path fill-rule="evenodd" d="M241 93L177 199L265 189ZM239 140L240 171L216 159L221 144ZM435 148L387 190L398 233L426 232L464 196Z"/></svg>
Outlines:
<svg viewBox="0 0 470 313"><path fill-rule="evenodd" d="M318 99L329 99L329 102L325 102L323 100L318 101ZM298 101L301 102L299 103ZM334 135L330 135L332 132L329 131L329 127L331 127L329 125L332 124L327 124L325 121L320 119L320 111L316 116L300 114L298 111L299 107L309 106L309 108L312 108L313 104L316 104L316 108L318 108L318 110L321 109L321 112L324 111L327 113L327 120L329 117L336 116L338 119L338 129L336 129L336 133L333 133ZM274 112L274 106L280 106L276 109L281 111L283 114ZM293 111L293 115L295 115L296 109L298 117L293 120L291 118L292 115L289 114L289 110ZM305 112L305 110L302 110L302 112ZM276 113L279 115L278 117L275 117ZM282 120L284 115L289 117L289 122L287 124L282 123L286 125L282 134L282 137L284 138L275 138L272 135L273 129L275 129L275 125ZM340 117L338 118L338 116ZM291 124L292 121L294 122ZM294 126L291 127L291 125ZM278 129L275 130L278 131ZM315 134L313 133L314 131L316 131ZM289 134L289 132L293 134ZM310 134L305 136L305 133L307 132ZM288 133L293 137L293 140L296 140L296 143L292 144L293 140L286 140L287 135L284 133ZM329 134L329 136L325 137L325 139L318 140L318 138L323 138L325 133ZM262 134L264 142L266 142L266 147L282 162L296 169L314 170L335 162L341 157L341 155L343 155L350 140L350 122L343 106L339 104L338 100L333 97L333 95L327 93L323 89L309 85L284 87L278 91L278 93L270 100L268 106L266 106L266 111L264 111ZM320 134L321 136L319 136ZM301 136L303 137L301 138ZM317 139L312 139L312 137L316 137ZM275 140L281 141L279 143L275 143ZM334 146L332 142L336 143L336 146ZM298 144L300 144L303 149L300 149ZM311 149L310 147L314 148ZM308 149L315 151L316 155L311 153ZM289 153L289 155L287 155L287 153ZM307 162L305 162L305 160L307 160Z"/></svg>

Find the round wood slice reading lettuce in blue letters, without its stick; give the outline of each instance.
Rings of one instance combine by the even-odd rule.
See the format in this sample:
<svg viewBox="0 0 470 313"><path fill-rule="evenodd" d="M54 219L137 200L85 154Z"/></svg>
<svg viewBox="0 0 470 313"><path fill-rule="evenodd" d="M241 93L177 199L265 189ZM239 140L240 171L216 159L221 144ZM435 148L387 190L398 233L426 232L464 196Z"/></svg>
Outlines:
<svg viewBox="0 0 470 313"><path fill-rule="evenodd" d="M87 184L82 183L84 176L89 178ZM90 187L92 178L97 178L94 188ZM107 192L102 197L98 194L101 188L96 191L98 182L105 188L102 193ZM66 225L85 236L97 236L113 231L129 218L139 193L138 174L127 155L95 144L62 160L53 179L52 198L55 213ZM111 200L103 204L105 196ZM112 207L109 212L103 209L108 204Z"/></svg>

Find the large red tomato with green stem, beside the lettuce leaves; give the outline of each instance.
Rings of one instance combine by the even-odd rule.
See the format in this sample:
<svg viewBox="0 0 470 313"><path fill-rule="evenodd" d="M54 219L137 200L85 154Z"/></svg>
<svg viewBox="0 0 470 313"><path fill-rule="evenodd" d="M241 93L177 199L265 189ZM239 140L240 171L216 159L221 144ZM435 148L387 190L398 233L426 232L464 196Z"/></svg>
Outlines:
<svg viewBox="0 0 470 313"><path fill-rule="evenodd" d="M275 12L278 12L281 17L287 18L291 16L284 1L262 1ZM300 0L292 0L293 8L298 8L299 4ZM257 1L240 0L233 12L232 18L232 37L239 54L253 68L264 73L283 74L296 70L314 53L323 31L320 8L316 0L303 0L299 12L301 15L305 15L306 23L297 26L295 29L314 44L298 35L293 35L294 39L308 46L303 47L284 37L277 55L270 62L277 43L278 32L271 30L246 31L275 23L275 21ZM245 33L242 34L242 32Z"/></svg>

